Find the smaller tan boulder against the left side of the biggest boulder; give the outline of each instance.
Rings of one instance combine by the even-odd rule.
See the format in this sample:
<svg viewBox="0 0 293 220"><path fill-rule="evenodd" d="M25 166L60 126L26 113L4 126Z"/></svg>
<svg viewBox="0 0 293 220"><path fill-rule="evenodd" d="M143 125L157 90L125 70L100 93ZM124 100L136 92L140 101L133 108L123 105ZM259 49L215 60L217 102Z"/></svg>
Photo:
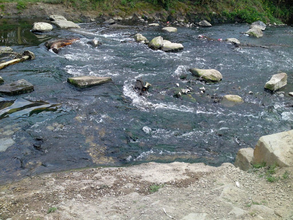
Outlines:
<svg viewBox="0 0 293 220"><path fill-rule="evenodd" d="M253 148L242 148L237 152L234 166L247 171L252 167L252 159Z"/></svg>

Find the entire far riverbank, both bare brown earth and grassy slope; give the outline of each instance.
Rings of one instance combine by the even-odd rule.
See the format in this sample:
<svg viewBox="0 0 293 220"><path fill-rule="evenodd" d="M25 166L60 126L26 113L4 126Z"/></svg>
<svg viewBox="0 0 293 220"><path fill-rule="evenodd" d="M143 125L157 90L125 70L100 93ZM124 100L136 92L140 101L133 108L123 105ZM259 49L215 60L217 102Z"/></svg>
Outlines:
<svg viewBox="0 0 293 220"><path fill-rule="evenodd" d="M164 4L162 3L164 2ZM247 22L283 23L292 18L292 6L271 1L1 1L1 18L32 18L63 15L75 22L144 18L159 21L211 23Z"/></svg>

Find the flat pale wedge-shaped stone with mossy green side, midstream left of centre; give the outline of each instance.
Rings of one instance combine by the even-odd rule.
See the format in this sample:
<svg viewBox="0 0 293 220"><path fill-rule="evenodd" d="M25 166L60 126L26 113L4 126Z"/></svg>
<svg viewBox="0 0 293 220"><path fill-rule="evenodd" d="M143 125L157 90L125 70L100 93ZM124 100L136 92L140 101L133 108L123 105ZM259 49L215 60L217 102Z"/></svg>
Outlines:
<svg viewBox="0 0 293 220"><path fill-rule="evenodd" d="M67 78L67 82L77 87L90 87L110 81L112 81L111 77L78 76Z"/></svg>

